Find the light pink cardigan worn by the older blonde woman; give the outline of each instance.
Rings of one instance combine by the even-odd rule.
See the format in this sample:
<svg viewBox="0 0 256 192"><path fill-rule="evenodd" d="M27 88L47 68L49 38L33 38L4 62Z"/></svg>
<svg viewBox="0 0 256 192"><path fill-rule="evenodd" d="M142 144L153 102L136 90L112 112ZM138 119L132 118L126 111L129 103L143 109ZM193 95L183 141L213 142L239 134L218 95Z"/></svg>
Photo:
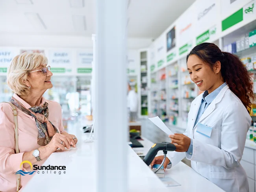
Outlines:
<svg viewBox="0 0 256 192"><path fill-rule="evenodd" d="M17 94L13 97L22 103L27 109L31 106L22 100ZM48 120L54 124L59 133L64 131L61 105L57 102L46 100L42 98L41 104L47 102L49 109ZM25 170L20 163L22 162L22 155L24 152L32 151L40 146L37 144L38 129L35 125L35 119L32 116L17 109L18 113L18 140L20 153L15 154L15 139L14 139L14 120L13 110L9 103L0 103L0 191L1 192L16 192L16 175L15 173L20 169ZM37 162L36 164L42 165L46 159ZM33 175L35 175L34 173ZM25 186L26 183L33 177L33 175L21 175L21 185ZM20 190L22 191L22 189Z"/></svg>

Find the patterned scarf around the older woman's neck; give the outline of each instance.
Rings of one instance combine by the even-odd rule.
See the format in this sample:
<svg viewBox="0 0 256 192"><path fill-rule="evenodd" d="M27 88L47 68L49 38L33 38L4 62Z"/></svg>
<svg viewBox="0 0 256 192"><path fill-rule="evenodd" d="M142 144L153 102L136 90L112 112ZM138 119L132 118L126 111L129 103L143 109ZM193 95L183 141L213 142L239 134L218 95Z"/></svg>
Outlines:
<svg viewBox="0 0 256 192"><path fill-rule="evenodd" d="M24 113L35 118L35 124L38 129L37 144L45 146L52 140L55 133L59 133L58 129L50 121L48 121L48 103L45 102L43 105L26 109L24 105L13 97L11 98L10 102Z"/></svg>

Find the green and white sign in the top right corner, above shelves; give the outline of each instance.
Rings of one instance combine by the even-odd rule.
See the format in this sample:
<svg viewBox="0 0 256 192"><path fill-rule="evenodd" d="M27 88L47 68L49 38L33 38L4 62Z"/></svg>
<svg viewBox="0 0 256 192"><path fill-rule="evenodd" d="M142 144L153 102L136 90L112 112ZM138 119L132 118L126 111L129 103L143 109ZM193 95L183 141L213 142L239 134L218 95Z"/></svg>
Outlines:
<svg viewBox="0 0 256 192"><path fill-rule="evenodd" d="M225 18L222 21L222 31L234 26L235 24L247 20L249 18L256 17L256 10L255 10L256 0L251 1L249 4L243 6L241 9L230 15L229 17Z"/></svg>

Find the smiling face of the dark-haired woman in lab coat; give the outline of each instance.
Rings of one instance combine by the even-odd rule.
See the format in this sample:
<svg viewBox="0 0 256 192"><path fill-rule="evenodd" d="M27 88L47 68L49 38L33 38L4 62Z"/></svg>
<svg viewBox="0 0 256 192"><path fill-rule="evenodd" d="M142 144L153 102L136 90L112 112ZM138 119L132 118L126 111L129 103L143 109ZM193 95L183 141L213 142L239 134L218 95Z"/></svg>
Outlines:
<svg viewBox="0 0 256 192"><path fill-rule="evenodd" d="M219 62L212 69L196 55L190 55L187 59L187 70L189 71L191 80L197 84L201 91L208 90L209 94L217 88L215 85L217 85L220 79L220 69L221 65Z"/></svg>

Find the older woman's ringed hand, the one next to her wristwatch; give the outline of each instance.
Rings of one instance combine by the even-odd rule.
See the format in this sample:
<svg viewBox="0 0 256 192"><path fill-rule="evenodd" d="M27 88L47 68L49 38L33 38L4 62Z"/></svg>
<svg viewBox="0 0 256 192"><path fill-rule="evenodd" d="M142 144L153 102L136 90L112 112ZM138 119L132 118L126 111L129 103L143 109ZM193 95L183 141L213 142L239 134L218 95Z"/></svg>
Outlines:
<svg viewBox="0 0 256 192"><path fill-rule="evenodd" d="M61 144L61 141L63 143ZM61 151L65 150L65 147L70 149L69 141L67 140L67 137L65 135L55 133L52 137L52 140L45 146L46 151L48 153L55 152L58 148L60 148Z"/></svg>

